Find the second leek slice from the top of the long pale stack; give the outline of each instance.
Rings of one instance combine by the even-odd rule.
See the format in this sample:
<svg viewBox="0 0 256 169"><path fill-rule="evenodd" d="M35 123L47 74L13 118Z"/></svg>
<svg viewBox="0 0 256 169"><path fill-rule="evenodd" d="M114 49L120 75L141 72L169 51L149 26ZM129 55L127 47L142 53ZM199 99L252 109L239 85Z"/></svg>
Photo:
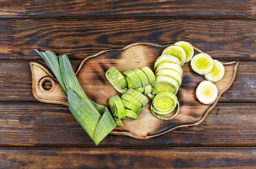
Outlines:
<svg viewBox="0 0 256 169"><path fill-rule="evenodd" d="M162 55L173 55L176 58L178 58L180 60L181 65L183 66L183 64L185 63L186 60L186 52L185 50L180 47L180 46L176 46L176 45L170 45L167 48L165 48L165 50L162 52Z"/></svg>

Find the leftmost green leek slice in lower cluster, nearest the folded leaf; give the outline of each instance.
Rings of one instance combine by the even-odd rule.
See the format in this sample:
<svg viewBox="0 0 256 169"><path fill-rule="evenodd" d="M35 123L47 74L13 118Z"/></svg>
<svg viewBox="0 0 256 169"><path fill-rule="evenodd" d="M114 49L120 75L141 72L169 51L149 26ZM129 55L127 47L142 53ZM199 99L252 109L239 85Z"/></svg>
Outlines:
<svg viewBox="0 0 256 169"><path fill-rule="evenodd" d="M118 117L118 119L125 118L125 108L122 100L118 95L111 96L108 100L108 103L114 116Z"/></svg>

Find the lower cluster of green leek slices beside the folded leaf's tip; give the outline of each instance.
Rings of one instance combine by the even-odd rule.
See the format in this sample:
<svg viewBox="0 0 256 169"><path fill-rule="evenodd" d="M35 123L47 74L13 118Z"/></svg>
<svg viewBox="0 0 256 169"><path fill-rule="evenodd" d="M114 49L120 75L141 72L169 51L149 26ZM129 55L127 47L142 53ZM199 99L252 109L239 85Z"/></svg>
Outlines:
<svg viewBox="0 0 256 169"><path fill-rule="evenodd" d="M142 112L141 108L148 103L148 99L141 92L129 88L121 98L114 95L108 102L117 125L123 126L121 119L136 120Z"/></svg>

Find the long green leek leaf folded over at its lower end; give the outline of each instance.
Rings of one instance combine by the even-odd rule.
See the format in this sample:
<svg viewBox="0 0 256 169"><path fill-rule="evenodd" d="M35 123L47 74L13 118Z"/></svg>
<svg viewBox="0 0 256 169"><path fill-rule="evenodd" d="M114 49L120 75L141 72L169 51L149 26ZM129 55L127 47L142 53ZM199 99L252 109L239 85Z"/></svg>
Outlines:
<svg viewBox="0 0 256 169"><path fill-rule="evenodd" d="M57 56L51 51L36 51L60 83L68 98L71 113L94 143L98 145L116 126L109 110L106 106L95 103L86 96L67 55Z"/></svg>

